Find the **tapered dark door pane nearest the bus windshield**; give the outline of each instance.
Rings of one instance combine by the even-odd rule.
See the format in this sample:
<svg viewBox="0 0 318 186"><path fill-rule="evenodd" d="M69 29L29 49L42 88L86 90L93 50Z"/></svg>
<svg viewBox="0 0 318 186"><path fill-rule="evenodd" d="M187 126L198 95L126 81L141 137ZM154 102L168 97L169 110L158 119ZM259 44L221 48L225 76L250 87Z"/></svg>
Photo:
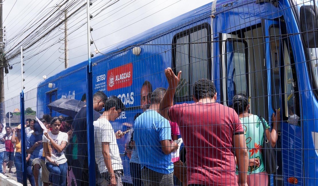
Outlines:
<svg viewBox="0 0 318 186"><path fill-rule="evenodd" d="M289 42L288 42L289 43ZM296 78L296 67L294 65L293 50L284 42L284 116L289 124L300 125L300 104L298 96L298 83ZM290 43L289 43L290 44ZM288 47L287 47L288 45Z"/></svg>

